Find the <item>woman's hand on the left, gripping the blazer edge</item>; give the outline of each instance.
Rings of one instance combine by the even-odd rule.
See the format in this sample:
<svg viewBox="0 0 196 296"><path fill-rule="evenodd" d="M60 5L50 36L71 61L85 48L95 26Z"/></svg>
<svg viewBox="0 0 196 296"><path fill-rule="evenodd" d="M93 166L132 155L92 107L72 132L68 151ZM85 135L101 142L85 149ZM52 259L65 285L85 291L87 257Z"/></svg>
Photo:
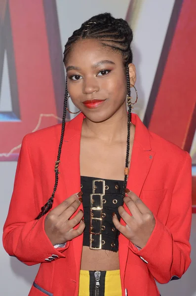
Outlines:
<svg viewBox="0 0 196 296"><path fill-rule="evenodd" d="M80 191L78 195L71 195L46 216L45 233L53 246L70 241L83 232L85 227L82 221L83 211L79 210L78 214L70 219L82 202L81 194ZM78 223L78 228L73 229Z"/></svg>

